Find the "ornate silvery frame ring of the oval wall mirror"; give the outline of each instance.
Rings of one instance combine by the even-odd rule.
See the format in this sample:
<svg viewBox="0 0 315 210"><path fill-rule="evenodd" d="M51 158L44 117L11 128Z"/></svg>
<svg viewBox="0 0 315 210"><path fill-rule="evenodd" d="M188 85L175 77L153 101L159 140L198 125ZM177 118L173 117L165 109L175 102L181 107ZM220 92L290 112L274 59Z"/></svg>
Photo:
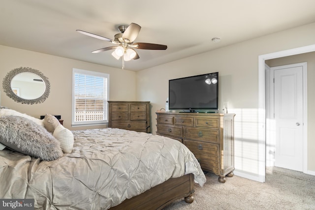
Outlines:
<svg viewBox="0 0 315 210"><path fill-rule="evenodd" d="M44 81L45 91L43 92L43 94L40 97L35 98L35 99L24 99L24 98L17 96L13 92L13 90L11 89L11 81L12 81L13 77L15 77L16 75L23 73L23 72L30 72L30 73L36 74ZM20 68L15 68L15 69L9 71L9 73L7 73L7 75L3 78L2 87L3 87L3 91L6 93L7 96L12 98L14 101L22 103L22 104L42 103L46 100L46 98L48 97L49 92L50 92L50 83L48 81L48 78L45 77L40 71L33 69L33 68L30 68L30 67L20 67Z"/></svg>

